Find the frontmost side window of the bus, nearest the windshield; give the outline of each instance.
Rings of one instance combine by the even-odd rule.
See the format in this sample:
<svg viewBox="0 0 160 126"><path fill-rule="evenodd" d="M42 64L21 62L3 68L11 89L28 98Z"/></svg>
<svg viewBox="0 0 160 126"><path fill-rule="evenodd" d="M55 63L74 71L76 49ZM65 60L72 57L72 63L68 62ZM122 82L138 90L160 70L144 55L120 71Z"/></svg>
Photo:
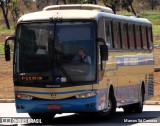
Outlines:
<svg viewBox="0 0 160 126"><path fill-rule="evenodd" d="M105 22L105 29L106 29L106 44L108 48L112 48L112 30L111 30L111 21L106 20Z"/></svg>

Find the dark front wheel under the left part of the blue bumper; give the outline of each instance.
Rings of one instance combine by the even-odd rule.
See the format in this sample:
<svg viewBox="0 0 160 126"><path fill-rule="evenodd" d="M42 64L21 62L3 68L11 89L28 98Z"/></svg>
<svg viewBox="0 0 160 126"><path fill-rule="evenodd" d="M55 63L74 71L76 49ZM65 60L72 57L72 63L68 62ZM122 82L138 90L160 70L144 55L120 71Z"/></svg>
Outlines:
<svg viewBox="0 0 160 126"><path fill-rule="evenodd" d="M28 113L32 119L41 119L42 123L52 122L55 113Z"/></svg>

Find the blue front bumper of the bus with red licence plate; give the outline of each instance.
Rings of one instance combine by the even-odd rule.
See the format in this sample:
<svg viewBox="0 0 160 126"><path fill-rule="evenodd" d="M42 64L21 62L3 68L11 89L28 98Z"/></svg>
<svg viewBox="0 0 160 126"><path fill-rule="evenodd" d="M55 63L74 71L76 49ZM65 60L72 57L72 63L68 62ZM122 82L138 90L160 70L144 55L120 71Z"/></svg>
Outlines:
<svg viewBox="0 0 160 126"><path fill-rule="evenodd" d="M16 99L18 113L78 113L98 111L96 96L84 99L67 100L22 100Z"/></svg>

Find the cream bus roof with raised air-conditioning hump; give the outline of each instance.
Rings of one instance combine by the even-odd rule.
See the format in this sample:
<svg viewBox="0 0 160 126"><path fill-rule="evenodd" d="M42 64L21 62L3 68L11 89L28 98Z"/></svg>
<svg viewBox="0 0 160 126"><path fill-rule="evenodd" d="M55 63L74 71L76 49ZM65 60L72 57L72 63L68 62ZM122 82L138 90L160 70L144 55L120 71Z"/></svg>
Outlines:
<svg viewBox="0 0 160 126"><path fill-rule="evenodd" d="M53 5L43 9L43 11L23 15L21 21L44 21L44 20L65 20L65 19L92 19L98 20L100 17L108 19L123 20L129 22L151 24L148 19L128 17L112 14L111 9L98 5Z"/></svg>

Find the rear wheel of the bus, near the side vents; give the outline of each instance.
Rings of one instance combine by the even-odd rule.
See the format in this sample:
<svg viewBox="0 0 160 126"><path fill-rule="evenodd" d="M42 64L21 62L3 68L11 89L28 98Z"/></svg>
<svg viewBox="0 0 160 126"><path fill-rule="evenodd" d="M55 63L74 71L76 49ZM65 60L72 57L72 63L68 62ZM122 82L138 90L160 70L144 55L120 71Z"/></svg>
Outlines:
<svg viewBox="0 0 160 126"><path fill-rule="evenodd" d="M143 93L143 90L141 90L140 101L139 101L139 103L134 105L134 112L135 113L142 113L143 102L144 102L144 93Z"/></svg>

